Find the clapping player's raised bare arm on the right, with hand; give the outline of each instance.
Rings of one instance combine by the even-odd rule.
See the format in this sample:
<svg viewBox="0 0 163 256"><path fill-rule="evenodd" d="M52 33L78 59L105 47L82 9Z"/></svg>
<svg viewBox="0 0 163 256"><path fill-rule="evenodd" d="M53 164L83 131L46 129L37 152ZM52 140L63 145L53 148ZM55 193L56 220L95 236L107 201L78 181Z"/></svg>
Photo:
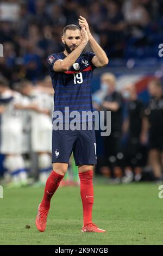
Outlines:
<svg viewBox="0 0 163 256"><path fill-rule="evenodd" d="M89 42L90 42L92 51L95 52L95 54L96 54L96 56L94 56L92 58L93 65L95 65L96 68L102 68L103 66L108 65L109 59L106 56L106 53L104 52L102 47L98 44L98 42L95 40L95 38L93 38L93 36L90 32L90 29L89 29L89 25L88 25L86 19L82 16L80 16L80 18L79 18L79 25L82 28L85 27L85 30L89 37Z"/></svg>

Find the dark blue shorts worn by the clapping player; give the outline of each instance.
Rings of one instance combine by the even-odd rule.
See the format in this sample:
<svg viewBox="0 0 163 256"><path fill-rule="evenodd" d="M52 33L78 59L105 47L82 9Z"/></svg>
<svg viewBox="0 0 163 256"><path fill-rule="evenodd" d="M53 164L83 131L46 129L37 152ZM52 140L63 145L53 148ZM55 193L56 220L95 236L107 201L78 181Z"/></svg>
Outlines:
<svg viewBox="0 0 163 256"><path fill-rule="evenodd" d="M52 163L69 163L72 152L76 166L96 164L95 130L53 130Z"/></svg>

